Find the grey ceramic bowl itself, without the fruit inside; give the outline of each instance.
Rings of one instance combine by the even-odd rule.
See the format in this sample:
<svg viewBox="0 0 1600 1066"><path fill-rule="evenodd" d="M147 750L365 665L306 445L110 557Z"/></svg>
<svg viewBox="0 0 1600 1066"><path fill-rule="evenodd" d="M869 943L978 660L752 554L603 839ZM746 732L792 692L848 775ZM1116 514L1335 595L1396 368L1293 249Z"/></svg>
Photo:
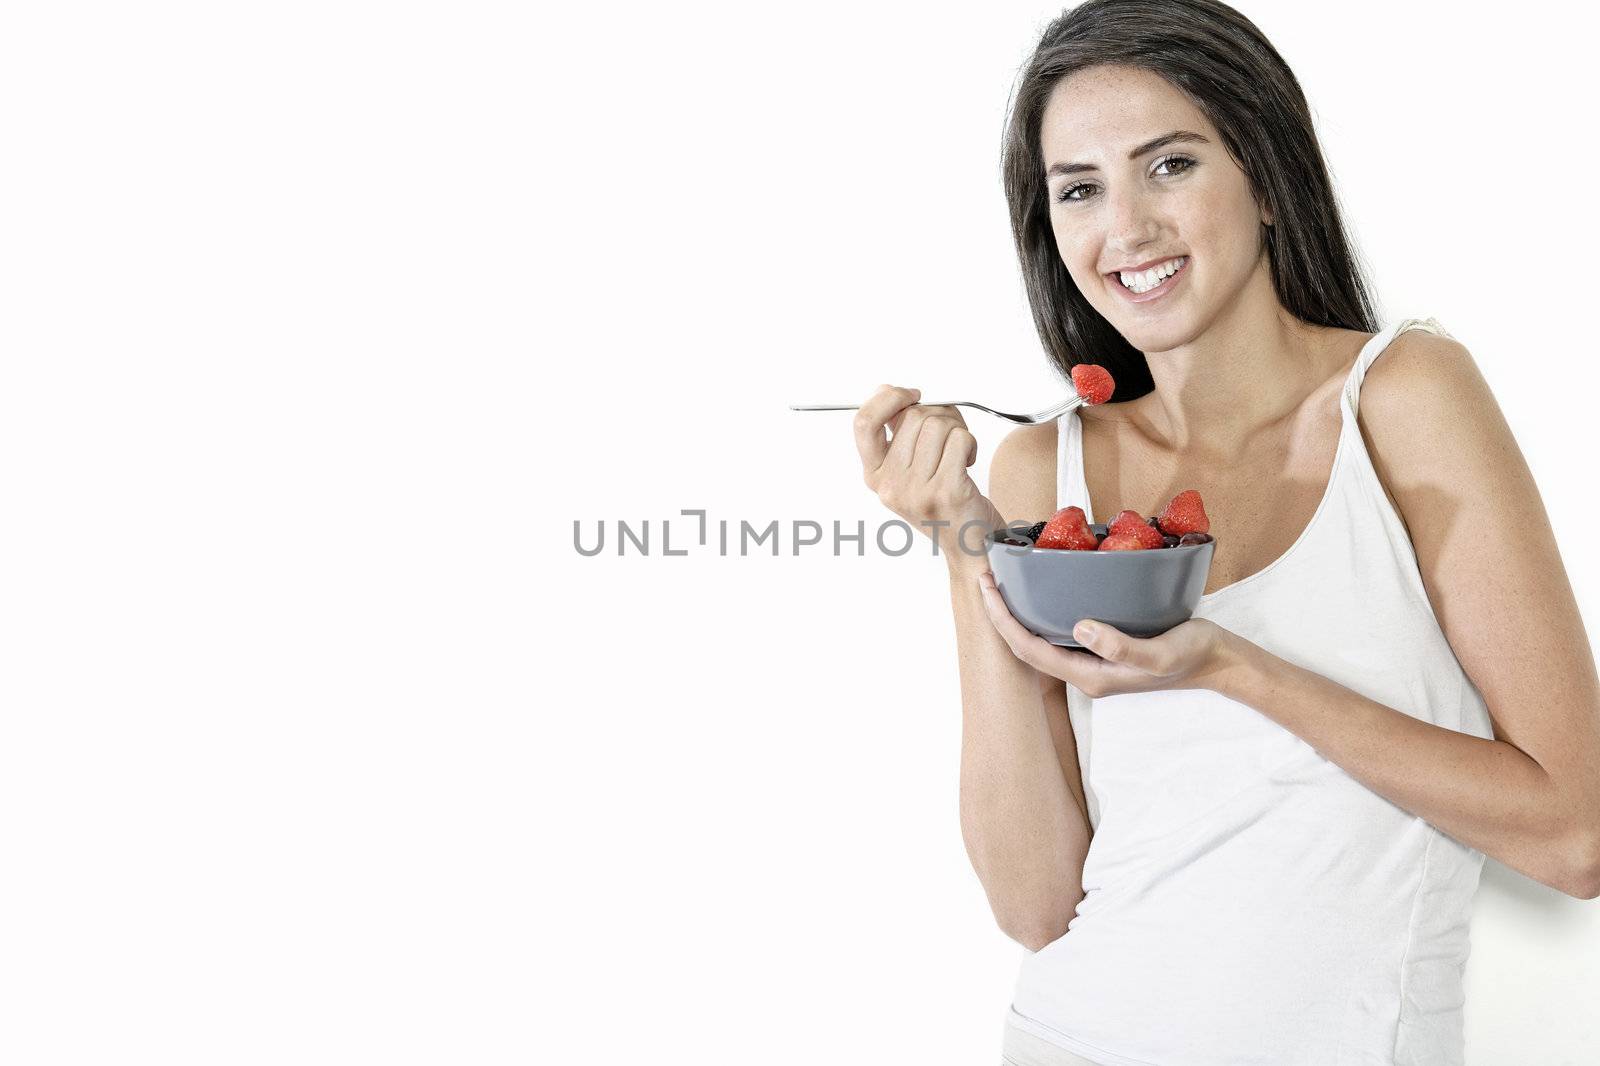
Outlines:
<svg viewBox="0 0 1600 1066"><path fill-rule="evenodd" d="M1133 637L1158 637L1189 621L1211 571L1216 541L1131 552L1016 547L998 536L1019 536L1027 525L984 538L989 570L1006 607L1029 632L1064 648L1082 648L1072 627L1085 618ZM1104 533L1104 523L1090 527Z"/></svg>

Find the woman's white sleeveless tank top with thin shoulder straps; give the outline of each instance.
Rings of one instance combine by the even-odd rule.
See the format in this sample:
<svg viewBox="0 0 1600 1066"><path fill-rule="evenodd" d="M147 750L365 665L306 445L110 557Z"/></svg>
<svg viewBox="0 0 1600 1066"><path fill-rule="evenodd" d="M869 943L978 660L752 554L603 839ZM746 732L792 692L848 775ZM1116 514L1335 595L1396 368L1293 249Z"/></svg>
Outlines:
<svg viewBox="0 0 1600 1066"><path fill-rule="evenodd" d="M1346 381L1333 472L1299 539L1195 616L1424 722L1491 738L1434 616ZM1056 506L1094 522L1077 411ZM1226 551L1226 549L1224 549ZM1067 685L1094 836L1066 935L1022 959L1010 1021L1106 1066L1461 1066L1483 853L1213 691Z"/></svg>

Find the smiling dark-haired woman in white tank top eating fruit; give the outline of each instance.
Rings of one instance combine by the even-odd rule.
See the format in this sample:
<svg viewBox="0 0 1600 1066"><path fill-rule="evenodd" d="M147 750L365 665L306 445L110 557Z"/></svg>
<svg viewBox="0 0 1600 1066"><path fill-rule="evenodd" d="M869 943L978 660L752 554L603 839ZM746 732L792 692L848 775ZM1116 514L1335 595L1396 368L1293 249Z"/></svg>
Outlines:
<svg viewBox="0 0 1600 1066"><path fill-rule="evenodd" d="M1056 19L1005 186L1046 351L1114 402L1011 432L992 501L957 410L883 386L854 427L949 562L963 839L1030 951L1005 1061L1461 1063L1483 856L1600 895L1600 685L1493 395L1437 322L1378 328L1299 85L1226 5ZM1195 616L1093 655L960 543L1186 488Z"/></svg>

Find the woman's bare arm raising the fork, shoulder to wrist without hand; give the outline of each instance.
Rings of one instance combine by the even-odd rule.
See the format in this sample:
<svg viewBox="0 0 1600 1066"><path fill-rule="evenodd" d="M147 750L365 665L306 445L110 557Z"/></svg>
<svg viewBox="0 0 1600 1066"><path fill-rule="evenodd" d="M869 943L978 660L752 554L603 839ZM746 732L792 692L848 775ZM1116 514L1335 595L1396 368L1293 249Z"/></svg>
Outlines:
<svg viewBox="0 0 1600 1066"><path fill-rule="evenodd" d="M1043 467L1043 469L1042 469ZM1013 431L990 464L1011 520L1054 511L1054 427ZM962 839L1000 928L1030 951L1067 930L1083 898L1090 828L1061 680L1027 666L984 610L981 557L950 565L962 675Z"/></svg>

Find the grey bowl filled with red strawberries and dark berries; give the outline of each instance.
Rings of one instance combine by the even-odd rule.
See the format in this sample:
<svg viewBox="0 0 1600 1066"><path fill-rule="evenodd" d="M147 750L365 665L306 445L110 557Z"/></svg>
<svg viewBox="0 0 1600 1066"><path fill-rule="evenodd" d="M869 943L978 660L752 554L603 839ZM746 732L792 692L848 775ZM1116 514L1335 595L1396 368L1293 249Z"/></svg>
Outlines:
<svg viewBox="0 0 1600 1066"><path fill-rule="evenodd" d="M1149 519L1123 511L1090 523L1082 507L986 538L989 568L1011 615L1029 632L1080 648L1085 618L1133 637L1157 637L1194 616L1216 541L1200 493L1189 488Z"/></svg>

